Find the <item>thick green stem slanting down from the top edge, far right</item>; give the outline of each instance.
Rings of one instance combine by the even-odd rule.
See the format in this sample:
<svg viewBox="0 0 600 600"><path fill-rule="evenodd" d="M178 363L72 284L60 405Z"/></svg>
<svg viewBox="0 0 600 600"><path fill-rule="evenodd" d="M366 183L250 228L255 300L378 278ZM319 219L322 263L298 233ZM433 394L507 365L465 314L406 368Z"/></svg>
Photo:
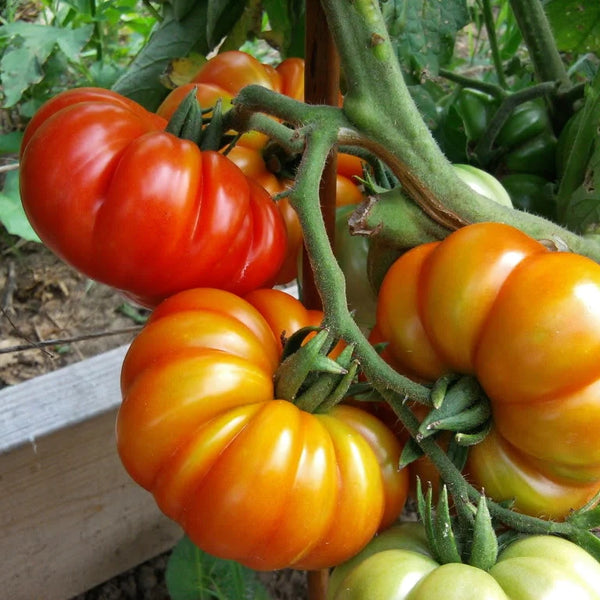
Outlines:
<svg viewBox="0 0 600 600"><path fill-rule="evenodd" d="M569 75L560 57L541 0L510 0L523 40L539 81L555 81L570 87Z"/></svg>

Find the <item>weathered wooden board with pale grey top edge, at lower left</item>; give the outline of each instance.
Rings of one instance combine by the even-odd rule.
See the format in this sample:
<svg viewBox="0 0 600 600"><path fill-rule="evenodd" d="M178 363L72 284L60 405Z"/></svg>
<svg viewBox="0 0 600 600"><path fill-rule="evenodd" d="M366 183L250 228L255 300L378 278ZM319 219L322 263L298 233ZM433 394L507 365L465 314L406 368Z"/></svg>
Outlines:
<svg viewBox="0 0 600 600"><path fill-rule="evenodd" d="M125 350L0 390L2 598L72 598L181 537L116 453Z"/></svg>

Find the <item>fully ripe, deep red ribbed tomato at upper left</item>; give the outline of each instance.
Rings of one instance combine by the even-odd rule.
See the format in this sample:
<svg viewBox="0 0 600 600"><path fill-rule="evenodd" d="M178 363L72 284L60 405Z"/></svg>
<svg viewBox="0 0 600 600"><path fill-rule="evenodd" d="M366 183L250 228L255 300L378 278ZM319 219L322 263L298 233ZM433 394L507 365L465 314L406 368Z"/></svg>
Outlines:
<svg viewBox="0 0 600 600"><path fill-rule="evenodd" d="M286 244L275 204L228 158L165 126L108 90L46 103L21 148L32 226L76 269L147 306L199 285L271 285Z"/></svg>

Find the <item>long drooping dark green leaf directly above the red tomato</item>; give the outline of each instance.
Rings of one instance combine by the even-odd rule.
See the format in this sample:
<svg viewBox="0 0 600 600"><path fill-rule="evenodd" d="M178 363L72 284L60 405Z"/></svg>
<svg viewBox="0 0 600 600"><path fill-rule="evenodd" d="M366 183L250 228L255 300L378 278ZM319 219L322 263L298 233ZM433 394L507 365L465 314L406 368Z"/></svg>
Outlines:
<svg viewBox="0 0 600 600"><path fill-rule="evenodd" d="M162 85L161 75L171 60L192 50L206 55L212 49L206 38L207 9L208 0L198 0L183 19L177 20L165 4L164 19L112 89L148 110L156 110L169 91Z"/></svg>

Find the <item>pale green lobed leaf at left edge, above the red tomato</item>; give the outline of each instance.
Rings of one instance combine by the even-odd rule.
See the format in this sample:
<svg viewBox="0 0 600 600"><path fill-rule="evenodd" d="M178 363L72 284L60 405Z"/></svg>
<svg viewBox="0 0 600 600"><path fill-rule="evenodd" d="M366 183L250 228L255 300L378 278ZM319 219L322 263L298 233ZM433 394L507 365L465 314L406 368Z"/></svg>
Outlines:
<svg viewBox="0 0 600 600"><path fill-rule="evenodd" d="M17 21L0 27L0 39L8 40L0 60L5 108L14 106L32 85L44 78L44 65L55 50L69 61L79 61L93 33L93 25L64 29Z"/></svg>

